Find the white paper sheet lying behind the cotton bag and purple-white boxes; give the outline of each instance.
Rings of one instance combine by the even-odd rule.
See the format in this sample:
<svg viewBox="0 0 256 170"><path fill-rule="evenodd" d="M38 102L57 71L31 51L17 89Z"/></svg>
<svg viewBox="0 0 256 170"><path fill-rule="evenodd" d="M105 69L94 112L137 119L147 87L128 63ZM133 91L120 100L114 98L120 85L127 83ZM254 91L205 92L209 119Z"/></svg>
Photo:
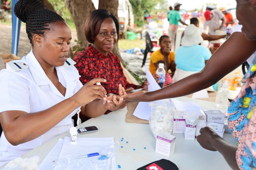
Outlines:
<svg viewBox="0 0 256 170"><path fill-rule="evenodd" d="M197 113L197 115L201 115L201 110L203 110L203 108L201 106L199 106L198 104L196 104L193 101L179 101L177 99L171 99L172 103L175 105L175 108L178 111L188 111L188 113Z"/></svg>

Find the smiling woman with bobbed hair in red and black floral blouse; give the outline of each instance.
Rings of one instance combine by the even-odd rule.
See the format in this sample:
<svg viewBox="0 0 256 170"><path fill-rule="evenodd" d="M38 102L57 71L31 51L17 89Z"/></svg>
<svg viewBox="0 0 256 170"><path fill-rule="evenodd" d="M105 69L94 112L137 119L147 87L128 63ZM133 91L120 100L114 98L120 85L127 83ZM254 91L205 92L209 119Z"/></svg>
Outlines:
<svg viewBox="0 0 256 170"><path fill-rule="evenodd" d="M91 44L74 58L82 84L92 78L102 77L108 80L102 83L107 93L118 94L119 84L123 85L126 92L139 88L148 89L147 81L139 86L127 82L118 57L111 52L119 39L119 22L113 14L105 9L92 11L86 18L84 32L87 41ZM117 109L119 107L111 110ZM87 112L85 115L92 118L102 114L102 112L98 114ZM84 117L81 119L82 122L86 120Z"/></svg>

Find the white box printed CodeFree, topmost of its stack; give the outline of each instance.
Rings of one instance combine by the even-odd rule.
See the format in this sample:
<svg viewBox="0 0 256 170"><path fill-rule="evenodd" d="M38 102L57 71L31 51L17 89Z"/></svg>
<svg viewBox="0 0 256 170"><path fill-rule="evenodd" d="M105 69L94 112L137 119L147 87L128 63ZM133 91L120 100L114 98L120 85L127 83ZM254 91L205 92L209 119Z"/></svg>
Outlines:
<svg viewBox="0 0 256 170"><path fill-rule="evenodd" d="M206 122L224 123L225 115L219 110L205 110Z"/></svg>

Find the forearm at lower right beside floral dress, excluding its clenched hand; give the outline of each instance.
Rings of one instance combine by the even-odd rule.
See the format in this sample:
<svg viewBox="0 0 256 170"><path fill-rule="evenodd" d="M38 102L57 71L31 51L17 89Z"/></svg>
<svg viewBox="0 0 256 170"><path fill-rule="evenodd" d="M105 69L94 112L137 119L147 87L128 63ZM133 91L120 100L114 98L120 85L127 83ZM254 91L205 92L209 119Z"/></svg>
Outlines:
<svg viewBox="0 0 256 170"><path fill-rule="evenodd" d="M212 140L212 146L222 154L232 169L239 169L236 163L236 146L229 144L219 136Z"/></svg>

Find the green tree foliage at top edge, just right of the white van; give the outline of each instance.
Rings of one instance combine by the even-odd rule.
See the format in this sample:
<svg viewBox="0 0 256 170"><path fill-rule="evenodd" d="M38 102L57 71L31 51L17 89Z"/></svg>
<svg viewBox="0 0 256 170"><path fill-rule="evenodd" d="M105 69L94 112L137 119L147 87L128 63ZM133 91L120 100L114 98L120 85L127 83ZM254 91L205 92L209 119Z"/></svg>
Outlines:
<svg viewBox="0 0 256 170"><path fill-rule="evenodd" d="M159 9L164 12L168 9L167 0L130 0L130 3L133 7L134 22L137 26L144 23L144 11L148 14L154 14ZM158 7L158 9L155 7Z"/></svg>

